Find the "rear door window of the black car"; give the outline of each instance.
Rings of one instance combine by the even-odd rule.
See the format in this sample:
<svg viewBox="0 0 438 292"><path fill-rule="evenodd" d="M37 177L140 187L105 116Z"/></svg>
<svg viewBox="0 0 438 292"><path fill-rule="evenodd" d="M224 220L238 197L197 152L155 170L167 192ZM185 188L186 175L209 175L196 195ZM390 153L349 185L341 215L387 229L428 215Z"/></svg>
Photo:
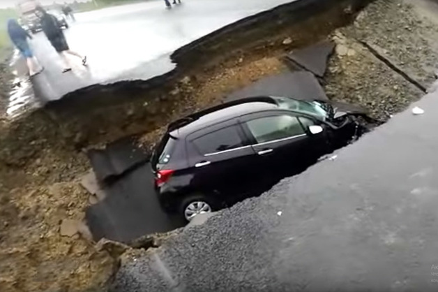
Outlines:
<svg viewBox="0 0 438 292"><path fill-rule="evenodd" d="M192 140L201 154L213 154L244 146L236 126L229 126Z"/></svg>

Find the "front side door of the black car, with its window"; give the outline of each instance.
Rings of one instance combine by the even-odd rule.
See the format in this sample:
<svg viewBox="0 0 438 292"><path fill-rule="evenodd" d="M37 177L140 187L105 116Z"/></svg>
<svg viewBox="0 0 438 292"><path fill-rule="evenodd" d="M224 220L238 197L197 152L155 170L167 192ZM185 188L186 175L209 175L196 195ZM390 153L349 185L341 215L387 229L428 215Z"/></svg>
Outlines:
<svg viewBox="0 0 438 292"><path fill-rule="evenodd" d="M309 166L312 139L298 117L288 112L262 112L241 120L259 156L260 180L277 182Z"/></svg>

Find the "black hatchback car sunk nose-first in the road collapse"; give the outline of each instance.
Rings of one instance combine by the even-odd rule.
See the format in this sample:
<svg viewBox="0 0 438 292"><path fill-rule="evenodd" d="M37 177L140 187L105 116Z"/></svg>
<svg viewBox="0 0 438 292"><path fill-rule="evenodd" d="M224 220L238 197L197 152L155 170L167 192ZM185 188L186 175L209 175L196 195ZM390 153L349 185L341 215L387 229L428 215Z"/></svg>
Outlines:
<svg viewBox="0 0 438 292"><path fill-rule="evenodd" d="M345 104L255 97L179 119L151 159L160 205L190 221L261 194L361 136L363 114Z"/></svg>

